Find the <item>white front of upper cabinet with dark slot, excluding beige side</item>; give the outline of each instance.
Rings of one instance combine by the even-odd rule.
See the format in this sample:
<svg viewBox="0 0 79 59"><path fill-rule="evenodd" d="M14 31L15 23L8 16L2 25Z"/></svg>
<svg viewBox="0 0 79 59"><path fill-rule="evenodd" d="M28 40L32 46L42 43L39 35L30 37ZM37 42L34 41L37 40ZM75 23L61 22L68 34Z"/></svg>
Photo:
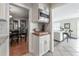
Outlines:
<svg viewBox="0 0 79 59"><path fill-rule="evenodd" d="M49 4L39 4L39 22L48 23L49 22Z"/></svg>

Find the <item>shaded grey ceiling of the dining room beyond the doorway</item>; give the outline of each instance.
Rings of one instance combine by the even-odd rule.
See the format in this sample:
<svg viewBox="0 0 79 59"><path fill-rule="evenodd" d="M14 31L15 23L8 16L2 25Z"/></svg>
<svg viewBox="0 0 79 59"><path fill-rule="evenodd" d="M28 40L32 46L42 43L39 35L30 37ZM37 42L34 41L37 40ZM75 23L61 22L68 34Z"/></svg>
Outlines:
<svg viewBox="0 0 79 59"><path fill-rule="evenodd" d="M28 10L18 6L10 5L10 15L15 18L26 18L28 17Z"/></svg>

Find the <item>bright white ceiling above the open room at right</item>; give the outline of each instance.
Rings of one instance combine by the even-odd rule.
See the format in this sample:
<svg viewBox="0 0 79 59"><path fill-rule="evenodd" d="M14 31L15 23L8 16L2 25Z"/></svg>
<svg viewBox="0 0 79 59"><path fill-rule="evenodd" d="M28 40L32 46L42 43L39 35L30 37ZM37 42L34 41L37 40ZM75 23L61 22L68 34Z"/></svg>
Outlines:
<svg viewBox="0 0 79 59"><path fill-rule="evenodd" d="M52 8L56 21L79 18L79 3L52 4Z"/></svg>

